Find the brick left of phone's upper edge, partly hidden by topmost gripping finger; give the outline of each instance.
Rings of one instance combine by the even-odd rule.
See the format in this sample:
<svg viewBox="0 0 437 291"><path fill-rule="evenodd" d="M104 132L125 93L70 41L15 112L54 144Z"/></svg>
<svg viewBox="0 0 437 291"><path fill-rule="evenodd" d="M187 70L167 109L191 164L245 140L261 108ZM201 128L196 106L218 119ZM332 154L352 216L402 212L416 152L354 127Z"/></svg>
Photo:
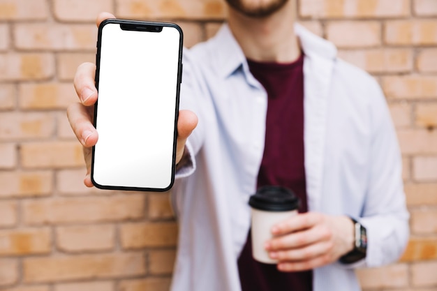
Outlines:
<svg viewBox="0 0 437 291"><path fill-rule="evenodd" d="M74 79L77 67L85 62L96 63L96 54L89 52L63 52L57 55L57 72L60 80Z"/></svg>

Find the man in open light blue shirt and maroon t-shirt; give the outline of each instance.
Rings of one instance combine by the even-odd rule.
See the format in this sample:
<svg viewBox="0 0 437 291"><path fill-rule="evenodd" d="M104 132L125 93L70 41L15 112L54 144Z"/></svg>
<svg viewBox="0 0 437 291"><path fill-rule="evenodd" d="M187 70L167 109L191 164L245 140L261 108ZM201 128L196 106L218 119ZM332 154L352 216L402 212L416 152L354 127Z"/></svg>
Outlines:
<svg viewBox="0 0 437 291"><path fill-rule="evenodd" d="M337 59L331 43L293 25L295 1L226 2L228 23L184 52L172 290L360 290L354 268L394 262L408 240L383 94ZM68 108L87 186L98 140L90 121L94 71L78 68L81 104ZM272 266L251 258L248 235L249 196L269 184L302 200L302 214L275 225L265 244L279 260Z"/></svg>

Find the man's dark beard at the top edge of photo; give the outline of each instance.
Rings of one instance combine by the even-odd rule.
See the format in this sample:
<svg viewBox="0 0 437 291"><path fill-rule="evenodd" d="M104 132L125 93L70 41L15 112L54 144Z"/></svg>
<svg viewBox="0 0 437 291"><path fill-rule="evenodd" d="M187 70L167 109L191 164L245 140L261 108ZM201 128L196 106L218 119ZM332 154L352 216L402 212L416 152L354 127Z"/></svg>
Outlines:
<svg viewBox="0 0 437 291"><path fill-rule="evenodd" d="M267 0L262 3L248 3L249 0L225 0L232 8L239 13L249 17L266 17L272 15L282 8L288 0Z"/></svg>

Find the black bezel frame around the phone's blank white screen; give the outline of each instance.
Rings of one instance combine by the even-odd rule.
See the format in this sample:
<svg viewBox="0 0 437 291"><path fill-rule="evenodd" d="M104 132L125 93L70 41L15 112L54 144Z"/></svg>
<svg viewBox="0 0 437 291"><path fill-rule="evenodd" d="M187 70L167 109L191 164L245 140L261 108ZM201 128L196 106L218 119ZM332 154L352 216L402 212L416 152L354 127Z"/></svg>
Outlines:
<svg viewBox="0 0 437 291"><path fill-rule="evenodd" d="M172 153L172 169L171 169L171 177L170 184L165 188L145 188L145 187L133 187L133 186L116 186L116 185L101 185L98 184L94 180L94 151L96 147L92 147L91 154L91 182L96 188L105 189L105 190L121 190L121 191L150 191L150 192L165 192L169 191L173 184L175 183L175 169L176 169L176 141L177 141L177 120L179 117L179 94L180 94L180 86L182 82L182 53L184 47L184 33L179 27L179 25L171 22L150 22L150 21L141 21L141 20L121 20L111 18L108 20L103 20L98 27L98 38L97 38L97 52L96 52L96 76L95 83L96 89L98 90L98 82L100 75L100 58L101 58L101 38L103 27L107 24L120 24L120 26L124 25L126 29L124 30L135 30L135 31L149 31L159 33L162 31L163 27L173 27L179 31L179 56L178 56L178 70L177 70L177 89L176 89L176 104L175 104L175 132L173 137L173 153ZM156 29L158 27L158 29ZM121 29L123 29L121 27ZM98 108L98 100L94 105L94 127L97 128L97 108Z"/></svg>

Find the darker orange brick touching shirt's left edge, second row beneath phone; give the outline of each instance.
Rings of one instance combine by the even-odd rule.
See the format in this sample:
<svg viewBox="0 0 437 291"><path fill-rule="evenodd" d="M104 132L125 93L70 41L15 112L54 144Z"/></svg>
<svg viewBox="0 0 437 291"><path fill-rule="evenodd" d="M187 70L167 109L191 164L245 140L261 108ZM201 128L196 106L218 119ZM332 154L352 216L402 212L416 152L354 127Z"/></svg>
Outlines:
<svg viewBox="0 0 437 291"><path fill-rule="evenodd" d="M120 228L123 248L176 246L176 223L126 223Z"/></svg>

